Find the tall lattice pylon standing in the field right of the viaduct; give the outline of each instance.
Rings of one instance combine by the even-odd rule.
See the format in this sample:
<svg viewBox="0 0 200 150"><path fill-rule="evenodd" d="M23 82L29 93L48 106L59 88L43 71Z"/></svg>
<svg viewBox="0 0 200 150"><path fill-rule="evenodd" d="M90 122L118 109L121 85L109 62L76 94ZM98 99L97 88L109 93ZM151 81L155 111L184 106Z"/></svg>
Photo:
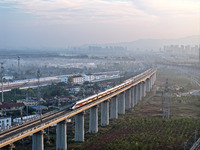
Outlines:
<svg viewBox="0 0 200 150"><path fill-rule="evenodd" d="M163 119L170 118L170 98L169 98L169 88L168 88L168 79L166 79L165 91L163 92L162 97L162 117Z"/></svg>

